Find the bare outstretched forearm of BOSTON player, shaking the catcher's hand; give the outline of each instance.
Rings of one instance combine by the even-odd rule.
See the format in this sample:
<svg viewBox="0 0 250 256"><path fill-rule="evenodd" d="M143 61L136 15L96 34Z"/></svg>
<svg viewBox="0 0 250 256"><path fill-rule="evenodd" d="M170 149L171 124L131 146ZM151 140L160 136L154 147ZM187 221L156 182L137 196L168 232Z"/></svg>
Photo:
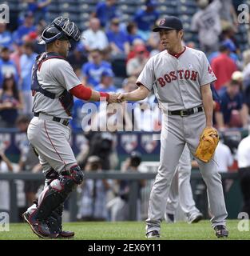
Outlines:
<svg viewBox="0 0 250 256"><path fill-rule="evenodd" d="M117 101L118 102L125 102L125 101L137 102L147 98L149 95L149 89L143 86L141 83L139 83L138 86L139 87L137 88L137 90L133 90L130 93L120 94L117 97Z"/></svg>

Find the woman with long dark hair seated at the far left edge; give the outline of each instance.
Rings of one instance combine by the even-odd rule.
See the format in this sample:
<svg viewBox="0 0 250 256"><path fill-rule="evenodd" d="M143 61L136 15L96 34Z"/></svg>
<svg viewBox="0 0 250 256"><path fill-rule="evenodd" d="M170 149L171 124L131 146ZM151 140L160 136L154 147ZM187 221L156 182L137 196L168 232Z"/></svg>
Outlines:
<svg viewBox="0 0 250 256"><path fill-rule="evenodd" d="M1 127L14 127L18 118L18 110L22 109L22 94L18 91L12 75L3 80L0 91L0 123Z"/></svg>

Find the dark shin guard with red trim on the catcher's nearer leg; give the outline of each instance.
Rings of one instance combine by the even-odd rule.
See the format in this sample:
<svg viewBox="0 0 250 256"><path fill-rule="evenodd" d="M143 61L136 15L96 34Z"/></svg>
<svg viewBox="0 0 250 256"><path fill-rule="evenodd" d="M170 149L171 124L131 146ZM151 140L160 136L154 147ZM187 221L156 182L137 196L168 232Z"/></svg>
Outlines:
<svg viewBox="0 0 250 256"><path fill-rule="evenodd" d="M36 210L35 218L39 221L49 218L53 211L65 202L71 191L81 184L83 178L84 174L80 167L73 166L67 174L64 172L58 179L50 182L50 185L46 186L38 198L38 210Z"/></svg>

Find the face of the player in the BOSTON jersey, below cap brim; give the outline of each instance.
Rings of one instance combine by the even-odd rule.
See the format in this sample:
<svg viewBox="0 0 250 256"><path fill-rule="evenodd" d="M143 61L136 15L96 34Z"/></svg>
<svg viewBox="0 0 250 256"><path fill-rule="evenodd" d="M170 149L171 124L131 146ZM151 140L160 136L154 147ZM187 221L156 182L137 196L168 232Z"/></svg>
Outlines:
<svg viewBox="0 0 250 256"><path fill-rule="evenodd" d="M161 45L165 50L173 50L176 46L181 45L181 31L177 30L160 30Z"/></svg>

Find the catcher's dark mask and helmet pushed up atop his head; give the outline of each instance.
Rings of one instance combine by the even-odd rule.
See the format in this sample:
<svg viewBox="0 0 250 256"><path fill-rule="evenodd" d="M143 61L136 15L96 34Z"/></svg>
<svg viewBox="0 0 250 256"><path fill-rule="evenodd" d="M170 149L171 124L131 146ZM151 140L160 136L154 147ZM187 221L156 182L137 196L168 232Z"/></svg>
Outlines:
<svg viewBox="0 0 250 256"><path fill-rule="evenodd" d="M74 22L70 22L67 17L55 18L49 26L46 26L42 32L42 37L38 44L44 45L54 42L58 39L70 40L78 42L81 38L81 32L78 30Z"/></svg>

